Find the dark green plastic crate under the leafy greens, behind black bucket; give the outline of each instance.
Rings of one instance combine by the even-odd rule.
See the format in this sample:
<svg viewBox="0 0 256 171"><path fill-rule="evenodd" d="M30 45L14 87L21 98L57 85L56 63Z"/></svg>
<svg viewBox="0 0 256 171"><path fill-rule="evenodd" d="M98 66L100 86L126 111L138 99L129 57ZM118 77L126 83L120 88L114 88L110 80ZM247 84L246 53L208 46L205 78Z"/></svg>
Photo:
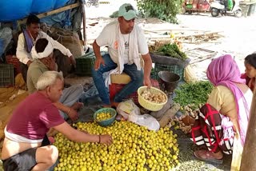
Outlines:
<svg viewBox="0 0 256 171"><path fill-rule="evenodd" d="M154 65L153 78L159 80L158 72L162 70L166 70L174 74L178 74L178 76L181 78L180 81L183 80L183 75L184 75L183 67L178 65L165 65L165 64L158 64L158 63L155 63Z"/></svg>

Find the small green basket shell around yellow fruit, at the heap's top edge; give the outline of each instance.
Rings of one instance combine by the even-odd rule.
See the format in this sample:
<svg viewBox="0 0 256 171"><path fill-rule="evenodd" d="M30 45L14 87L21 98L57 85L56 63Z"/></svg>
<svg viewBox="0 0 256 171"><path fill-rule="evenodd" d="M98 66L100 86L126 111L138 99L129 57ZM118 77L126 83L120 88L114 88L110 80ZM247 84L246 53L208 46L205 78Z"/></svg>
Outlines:
<svg viewBox="0 0 256 171"><path fill-rule="evenodd" d="M106 119L104 121L97 121L96 117L99 113L110 113L111 117L109 119ZM96 121L98 123L98 125L101 126L108 126L113 124L113 122L115 121L115 117L117 115L117 111L115 111L115 109L113 108L102 108L102 109L98 109L95 113L94 113L94 121Z"/></svg>

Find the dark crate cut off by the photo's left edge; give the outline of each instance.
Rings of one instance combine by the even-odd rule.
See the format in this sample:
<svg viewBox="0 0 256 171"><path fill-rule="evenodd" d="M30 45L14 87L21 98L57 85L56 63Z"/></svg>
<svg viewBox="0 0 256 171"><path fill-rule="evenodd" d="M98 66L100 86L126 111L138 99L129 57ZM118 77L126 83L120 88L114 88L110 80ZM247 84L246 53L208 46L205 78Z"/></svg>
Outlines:
<svg viewBox="0 0 256 171"><path fill-rule="evenodd" d="M14 86L14 66L0 64L0 87Z"/></svg>

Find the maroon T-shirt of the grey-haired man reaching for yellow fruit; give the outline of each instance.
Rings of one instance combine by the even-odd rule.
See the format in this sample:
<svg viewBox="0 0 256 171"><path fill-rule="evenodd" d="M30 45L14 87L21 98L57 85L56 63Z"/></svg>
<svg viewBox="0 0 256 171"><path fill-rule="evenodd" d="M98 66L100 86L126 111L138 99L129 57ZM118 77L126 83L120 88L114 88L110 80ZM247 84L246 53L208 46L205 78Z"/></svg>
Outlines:
<svg viewBox="0 0 256 171"><path fill-rule="evenodd" d="M14 110L6 130L30 140L38 140L42 139L51 127L63 122L64 119L50 99L36 92L26 97Z"/></svg>

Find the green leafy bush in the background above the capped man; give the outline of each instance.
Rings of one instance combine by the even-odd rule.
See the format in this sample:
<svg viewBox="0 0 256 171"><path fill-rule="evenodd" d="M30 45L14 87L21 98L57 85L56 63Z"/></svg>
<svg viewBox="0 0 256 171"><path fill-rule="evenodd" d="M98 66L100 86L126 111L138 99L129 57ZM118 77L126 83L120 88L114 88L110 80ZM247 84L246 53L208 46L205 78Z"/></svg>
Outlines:
<svg viewBox="0 0 256 171"><path fill-rule="evenodd" d="M176 15L181 10L182 0L137 0L137 6L143 17L177 23Z"/></svg>

